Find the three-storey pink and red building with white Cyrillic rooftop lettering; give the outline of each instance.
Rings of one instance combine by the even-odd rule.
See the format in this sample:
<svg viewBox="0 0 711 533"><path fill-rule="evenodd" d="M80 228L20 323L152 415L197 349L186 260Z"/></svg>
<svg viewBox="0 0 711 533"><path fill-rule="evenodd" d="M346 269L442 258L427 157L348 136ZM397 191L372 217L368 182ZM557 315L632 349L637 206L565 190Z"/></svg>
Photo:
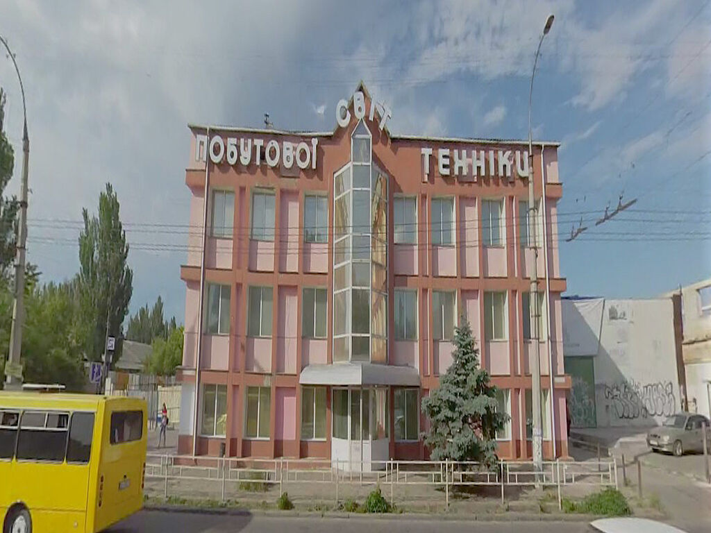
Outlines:
<svg viewBox="0 0 711 533"><path fill-rule="evenodd" d="M499 455L530 457L528 145L395 136L390 113L360 85L333 131L190 126L179 453L427 458L420 405L466 318L510 414ZM533 150L548 458L570 389L557 146Z"/></svg>

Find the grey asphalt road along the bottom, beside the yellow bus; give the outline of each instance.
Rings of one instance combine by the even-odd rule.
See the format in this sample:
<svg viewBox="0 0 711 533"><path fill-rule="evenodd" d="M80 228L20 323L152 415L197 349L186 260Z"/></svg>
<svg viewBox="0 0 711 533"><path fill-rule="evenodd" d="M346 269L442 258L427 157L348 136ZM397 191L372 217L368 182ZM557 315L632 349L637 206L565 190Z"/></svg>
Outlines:
<svg viewBox="0 0 711 533"><path fill-rule="evenodd" d="M457 522L453 520L216 516L141 511L105 533L589 533L584 522Z"/></svg>

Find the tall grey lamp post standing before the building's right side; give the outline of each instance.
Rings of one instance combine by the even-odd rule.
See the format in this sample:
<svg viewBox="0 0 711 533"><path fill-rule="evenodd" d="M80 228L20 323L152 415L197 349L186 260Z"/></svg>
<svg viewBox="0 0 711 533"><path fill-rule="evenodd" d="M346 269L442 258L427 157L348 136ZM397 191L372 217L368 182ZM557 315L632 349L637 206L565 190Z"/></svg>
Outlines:
<svg viewBox="0 0 711 533"><path fill-rule="evenodd" d="M538 243L536 242L536 220L538 208L536 207L535 198L533 195L533 141L531 140L531 107L533 104L533 78L535 77L535 68L538 65L538 55L540 53L540 45L543 43L543 38L547 36L550 27L553 25L553 16L548 16L545 21L545 26L540 34L538 48L535 50L535 59L533 60L533 72L531 72L531 85L528 92L528 235L530 235L530 243L533 245L533 264L531 265L530 275L530 294L528 298L530 311L530 330L531 341L533 342L533 365L531 365L531 414L533 416L533 465L536 472L540 472L543 468L543 438L542 438L542 416L541 416L541 387L540 387L540 331L538 324L540 322L540 311L538 311ZM541 179L543 176L541 176ZM545 231L545 228L543 228ZM549 372L550 373L550 372ZM550 376L552 379L552 375ZM550 400L553 401L552 399ZM555 438L553 436L552 438ZM538 481L538 475L536 475Z"/></svg>

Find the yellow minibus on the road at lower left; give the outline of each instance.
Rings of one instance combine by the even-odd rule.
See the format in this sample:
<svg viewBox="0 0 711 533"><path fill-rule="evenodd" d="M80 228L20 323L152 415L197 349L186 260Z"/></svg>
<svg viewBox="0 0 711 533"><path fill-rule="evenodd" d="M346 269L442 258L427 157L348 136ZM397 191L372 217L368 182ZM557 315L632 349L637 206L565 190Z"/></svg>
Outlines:
<svg viewBox="0 0 711 533"><path fill-rule="evenodd" d="M146 402L0 391L3 533L93 533L143 505Z"/></svg>

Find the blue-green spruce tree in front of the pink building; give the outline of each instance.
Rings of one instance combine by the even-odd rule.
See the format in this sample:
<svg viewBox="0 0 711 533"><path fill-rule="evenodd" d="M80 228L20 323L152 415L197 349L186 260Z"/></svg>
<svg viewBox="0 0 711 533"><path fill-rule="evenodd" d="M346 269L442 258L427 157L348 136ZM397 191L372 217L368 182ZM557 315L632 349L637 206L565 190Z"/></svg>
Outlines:
<svg viewBox="0 0 711 533"><path fill-rule="evenodd" d="M493 466L496 431L508 415L496 411L496 386L479 365L479 350L466 317L454 330L454 360L439 387L422 400L430 421L424 444L435 461L479 461Z"/></svg>

